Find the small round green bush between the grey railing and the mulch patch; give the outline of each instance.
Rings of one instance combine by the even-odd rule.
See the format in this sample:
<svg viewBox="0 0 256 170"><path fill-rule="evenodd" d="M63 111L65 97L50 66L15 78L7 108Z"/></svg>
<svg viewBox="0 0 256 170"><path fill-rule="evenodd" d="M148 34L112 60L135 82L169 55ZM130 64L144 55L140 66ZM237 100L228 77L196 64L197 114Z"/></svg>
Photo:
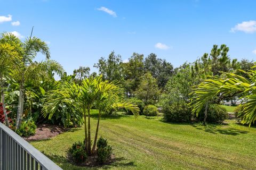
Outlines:
<svg viewBox="0 0 256 170"><path fill-rule="evenodd" d="M20 128L16 131L21 137L29 137L36 134L36 125L33 120L23 120Z"/></svg>

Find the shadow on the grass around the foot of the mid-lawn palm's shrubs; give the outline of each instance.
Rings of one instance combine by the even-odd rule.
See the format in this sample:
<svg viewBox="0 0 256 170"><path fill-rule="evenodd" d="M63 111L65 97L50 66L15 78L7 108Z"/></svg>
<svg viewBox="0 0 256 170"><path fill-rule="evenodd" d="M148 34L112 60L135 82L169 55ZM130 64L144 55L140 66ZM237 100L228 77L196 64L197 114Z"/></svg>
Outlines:
<svg viewBox="0 0 256 170"><path fill-rule="evenodd" d="M124 157L115 158L114 162L108 165L95 166L95 167L83 167L73 165L68 162L67 158L60 155L48 155L42 152L46 157L51 159L54 163L58 164L63 169L110 169L112 167L127 167L127 166L136 166L133 161L124 162L126 159Z"/></svg>

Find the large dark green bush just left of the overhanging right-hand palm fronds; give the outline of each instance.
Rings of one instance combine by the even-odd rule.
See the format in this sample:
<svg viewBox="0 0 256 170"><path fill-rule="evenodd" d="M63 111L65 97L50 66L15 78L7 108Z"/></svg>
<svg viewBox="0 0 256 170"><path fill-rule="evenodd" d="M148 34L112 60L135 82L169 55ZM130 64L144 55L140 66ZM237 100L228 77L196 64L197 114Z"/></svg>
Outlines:
<svg viewBox="0 0 256 170"><path fill-rule="evenodd" d="M190 122L191 109L185 101L165 104L162 110L167 122Z"/></svg>

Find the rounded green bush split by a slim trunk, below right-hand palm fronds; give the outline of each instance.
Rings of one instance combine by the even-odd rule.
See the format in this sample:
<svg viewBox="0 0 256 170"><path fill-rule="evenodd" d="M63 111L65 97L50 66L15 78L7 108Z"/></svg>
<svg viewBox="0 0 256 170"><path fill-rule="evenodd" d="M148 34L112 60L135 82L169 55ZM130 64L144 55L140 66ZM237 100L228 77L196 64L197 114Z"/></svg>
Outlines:
<svg viewBox="0 0 256 170"><path fill-rule="evenodd" d="M207 111L207 118L206 122L208 123L222 123L228 118L228 113L225 108L223 108L220 105L213 104L209 106L209 109ZM201 112L198 114L198 117L196 117L198 121L204 120L204 109L201 110Z"/></svg>

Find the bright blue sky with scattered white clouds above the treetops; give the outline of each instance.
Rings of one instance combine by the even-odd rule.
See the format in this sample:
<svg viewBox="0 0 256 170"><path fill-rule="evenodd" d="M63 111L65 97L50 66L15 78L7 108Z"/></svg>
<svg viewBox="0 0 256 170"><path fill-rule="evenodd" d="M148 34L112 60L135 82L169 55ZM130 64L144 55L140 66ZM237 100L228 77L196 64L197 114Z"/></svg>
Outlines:
<svg viewBox="0 0 256 170"><path fill-rule="evenodd" d="M230 58L256 58L256 1L0 0L0 32L49 43L51 58L71 74L115 50L156 53L175 67L193 62L213 44L227 44ZM17 22L19 21L19 22ZM38 56L37 60L42 60Z"/></svg>

